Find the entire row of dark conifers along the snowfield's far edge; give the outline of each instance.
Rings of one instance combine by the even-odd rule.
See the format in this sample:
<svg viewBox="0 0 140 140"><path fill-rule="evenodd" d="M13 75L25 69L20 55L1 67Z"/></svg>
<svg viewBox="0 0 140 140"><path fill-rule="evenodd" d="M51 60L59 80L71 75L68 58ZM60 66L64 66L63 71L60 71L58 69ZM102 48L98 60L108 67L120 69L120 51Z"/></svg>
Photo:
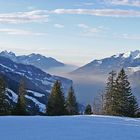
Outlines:
<svg viewBox="0 0 140 140"><path fill-rule="evenodd" d="M13 107L6 95L6 83L0 77L0 115L30 115L25 100L26 86L23 80L19 84L18 100ZM94 98L93 105L88 104L82 114L102 114L113 116L139 117L139 106L136 97L132 94L130 82L124 69L118 74L115 71L109 73L106 89L103 94ZM46 112L43 115L78 115L78 103L73 87L64 96L61 82L56 81L46 104Z"/></svg>

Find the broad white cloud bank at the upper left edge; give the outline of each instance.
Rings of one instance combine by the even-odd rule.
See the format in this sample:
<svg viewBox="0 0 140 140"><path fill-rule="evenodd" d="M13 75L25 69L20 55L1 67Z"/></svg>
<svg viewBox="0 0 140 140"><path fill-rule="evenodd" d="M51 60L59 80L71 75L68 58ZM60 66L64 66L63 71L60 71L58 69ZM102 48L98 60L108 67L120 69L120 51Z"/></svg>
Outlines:
<svg viewBox="0 0 140 140"><path fill-rule="evenodd" d="M0 23L42 23L48 22L46 10L34 10L29 12L0 13Z"/></svg>

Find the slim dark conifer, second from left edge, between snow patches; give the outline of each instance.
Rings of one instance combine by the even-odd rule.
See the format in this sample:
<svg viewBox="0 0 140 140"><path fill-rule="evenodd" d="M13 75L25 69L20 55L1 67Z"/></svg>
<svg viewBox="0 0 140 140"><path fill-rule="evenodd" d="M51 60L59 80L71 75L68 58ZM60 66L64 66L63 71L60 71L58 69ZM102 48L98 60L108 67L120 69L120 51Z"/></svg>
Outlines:
<svg viewBox="0 0 140 140"><path fill-rule="evenodd" d="M26 101L25 101L26 88L23 80L20 81L18 101L13 111L14 115L27 115Z"/></svg>

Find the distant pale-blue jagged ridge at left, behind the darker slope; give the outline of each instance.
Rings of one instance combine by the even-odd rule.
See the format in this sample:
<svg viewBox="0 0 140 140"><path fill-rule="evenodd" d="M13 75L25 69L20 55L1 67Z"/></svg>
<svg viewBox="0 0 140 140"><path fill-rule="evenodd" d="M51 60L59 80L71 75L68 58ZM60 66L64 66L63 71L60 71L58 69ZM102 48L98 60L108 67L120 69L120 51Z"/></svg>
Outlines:
<svg viewBox="0 0 140 140"><path fill-rule="evenodd" d="M12 61L17 62L17 63L33 65L42 70L48 70L50 68L65 66L65 64L57 61L56 59L52 57L45 57L43 55L35 54L35 53L32 53L30 55L16 56L13 52L2 51L0 53L0 56L9 58Z"/></svg>

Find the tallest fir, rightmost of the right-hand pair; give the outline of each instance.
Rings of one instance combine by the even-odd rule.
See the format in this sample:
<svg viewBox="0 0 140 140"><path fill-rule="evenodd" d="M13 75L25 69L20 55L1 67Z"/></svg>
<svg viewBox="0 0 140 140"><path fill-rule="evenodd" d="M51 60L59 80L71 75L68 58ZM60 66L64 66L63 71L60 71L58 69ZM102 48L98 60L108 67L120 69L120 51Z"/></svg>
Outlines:
<svg viewBox="0 0 140 140"><path fill-rule="evenodd" d="M122 69L116 79L116 115L134 117L138 104L134 95L131 92L131 86L128 81L128 77Z"/></svg>

